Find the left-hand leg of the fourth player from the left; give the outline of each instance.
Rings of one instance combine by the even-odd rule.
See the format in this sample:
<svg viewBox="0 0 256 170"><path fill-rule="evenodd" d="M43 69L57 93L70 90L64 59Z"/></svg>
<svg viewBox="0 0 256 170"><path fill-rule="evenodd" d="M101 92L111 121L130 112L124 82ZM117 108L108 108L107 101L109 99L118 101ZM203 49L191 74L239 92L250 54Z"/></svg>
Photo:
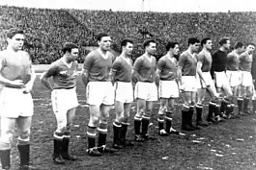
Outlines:
<svg viewBox="0 0 256 170"><path fill-rule="evenodd" d="M116 119L113 122L113 148L121 149L123 148L121 145L121 130L122 130L122 119L124 117L124 103L115 101L115 112Z"/></svg>

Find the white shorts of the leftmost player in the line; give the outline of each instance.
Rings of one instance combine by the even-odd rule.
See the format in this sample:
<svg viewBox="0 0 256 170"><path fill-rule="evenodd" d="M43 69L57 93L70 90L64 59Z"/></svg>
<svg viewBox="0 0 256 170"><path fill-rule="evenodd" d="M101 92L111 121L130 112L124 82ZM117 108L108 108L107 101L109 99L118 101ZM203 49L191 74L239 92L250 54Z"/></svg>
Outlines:
<svg viewBox="0 0 256 170"><path fill-rule="evenodd" d="M0 114L2 117L17 118L32 116L34 112L33 99L30 93L24 94L22 88L4 86L0 99Z"/></svg>

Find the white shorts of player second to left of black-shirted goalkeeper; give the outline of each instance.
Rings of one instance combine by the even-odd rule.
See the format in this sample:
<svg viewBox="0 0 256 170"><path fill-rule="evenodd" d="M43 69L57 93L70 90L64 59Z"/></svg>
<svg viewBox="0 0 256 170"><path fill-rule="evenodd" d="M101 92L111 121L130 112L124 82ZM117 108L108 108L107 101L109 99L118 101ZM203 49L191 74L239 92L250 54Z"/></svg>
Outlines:
<svg viewBox="0 0 256 170"><path fill-rule="evenodd" d="M197 91L197 83L195 76L183 76L181 90L184 91Z"/></svg>

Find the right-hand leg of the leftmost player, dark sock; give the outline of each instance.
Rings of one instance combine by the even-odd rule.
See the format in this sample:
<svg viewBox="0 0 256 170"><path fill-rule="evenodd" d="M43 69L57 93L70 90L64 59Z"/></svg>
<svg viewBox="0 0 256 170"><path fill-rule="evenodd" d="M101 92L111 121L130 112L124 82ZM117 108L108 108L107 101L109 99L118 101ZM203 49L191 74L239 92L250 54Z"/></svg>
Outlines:
<svg viewBox="0 0 256 170"><path fill-rule="evenodd" d="M17 138L17 149L20 158L20 168L21 169L35 169L29 166L29 156L30 156L30 127L31 127L32 117L22 117L19 116L16 119L18 138Z"/></svg>

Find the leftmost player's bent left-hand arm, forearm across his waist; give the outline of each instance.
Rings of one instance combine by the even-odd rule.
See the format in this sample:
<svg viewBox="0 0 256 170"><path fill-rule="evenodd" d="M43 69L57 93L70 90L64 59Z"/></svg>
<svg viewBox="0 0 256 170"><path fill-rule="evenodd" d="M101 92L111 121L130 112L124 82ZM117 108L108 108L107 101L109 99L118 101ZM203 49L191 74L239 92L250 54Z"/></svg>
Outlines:
<svg viewBox="0 0 256 170"><path fill-rule="evenodd" d="M6 65L6 59L4 56L2 56L2 54L0 54L0 71L5 67L5 65ZM0 83L3 85L11 85L11 86L14 86L15 88L24 87L24 83L22 80L11 81L4 78L2 74L0 74Z"/></svg>

